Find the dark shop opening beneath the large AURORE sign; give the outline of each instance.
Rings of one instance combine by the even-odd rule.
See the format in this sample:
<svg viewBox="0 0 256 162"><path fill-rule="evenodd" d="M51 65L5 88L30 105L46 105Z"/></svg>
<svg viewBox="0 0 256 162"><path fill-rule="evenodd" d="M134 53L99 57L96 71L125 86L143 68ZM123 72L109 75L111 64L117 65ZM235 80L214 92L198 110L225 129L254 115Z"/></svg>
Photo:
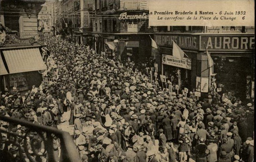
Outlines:
<svg viewBox="0 0 256 162"><path fill-rule="evenodd" d="M236 97L246 98L247 76L252 74L251 59L245 57L213 57L217 87L221 93L233 92ZM251 76L253 77L253 76Z"/></svg>

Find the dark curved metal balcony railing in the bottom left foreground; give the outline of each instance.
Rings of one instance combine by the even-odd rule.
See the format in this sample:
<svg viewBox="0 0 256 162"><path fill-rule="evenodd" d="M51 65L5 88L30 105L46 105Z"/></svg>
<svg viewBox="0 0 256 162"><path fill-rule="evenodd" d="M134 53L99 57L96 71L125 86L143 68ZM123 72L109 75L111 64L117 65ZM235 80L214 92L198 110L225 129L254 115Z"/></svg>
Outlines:
<svg viewBox="0 0 256 162"><path fill-rule="evenodd" d="M75 144L69 133L60 131L55 128L34 124L29 121L21 120L14 117L0 115L2 127L0 129L0 158L9 158L7 161L44 161L47 158L49 162L59 161L55 156L56 140L60 141L60 158L63 162L81 162L80 156L76 150ZM22 133L8 131L7 128L15 128L21 125ZM9 127L10 126L10 127ZM6 149L9 148L9 149ZM12 157L9 155L16 155ZM13 160L14 159L14 160ZM1 160L0 160L1 161ZM2 160L4 161L4 160Z"/></svg>

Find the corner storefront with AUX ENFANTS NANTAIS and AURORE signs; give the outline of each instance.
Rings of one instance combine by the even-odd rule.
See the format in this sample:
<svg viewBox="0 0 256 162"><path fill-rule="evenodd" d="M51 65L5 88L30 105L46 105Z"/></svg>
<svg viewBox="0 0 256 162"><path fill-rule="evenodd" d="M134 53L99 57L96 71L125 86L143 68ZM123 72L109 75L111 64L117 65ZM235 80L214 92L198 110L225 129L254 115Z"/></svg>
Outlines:
<svg viewBox="0 0 256 162"><path fill-rule="evenodd" d="M246 93L251 91L251 86L249 89L247 86L251 83L247 83L247 80L254 81L254 34L155 33L154 40L159 46L156 56L158 74L166 75L167 80L176 83L179 70L183 85L181 89L186 87L207 95L214 76L216 88L221 87L219 94L234 92L245 98ZM172 59L172 40L187 55L183 61ZM214 62L211 73L204 45ZM191 67L186 67L188 65Z"/></svg>

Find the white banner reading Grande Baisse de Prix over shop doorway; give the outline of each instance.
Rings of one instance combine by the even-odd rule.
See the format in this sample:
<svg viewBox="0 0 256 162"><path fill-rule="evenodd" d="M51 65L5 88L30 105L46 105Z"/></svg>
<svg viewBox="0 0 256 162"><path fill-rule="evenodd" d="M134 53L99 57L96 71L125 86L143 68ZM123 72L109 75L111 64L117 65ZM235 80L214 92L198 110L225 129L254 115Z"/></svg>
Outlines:
<svg viewBox="0 0 256 162"><path fill-rule="evenodd" d="M171 66L176 66L176 67L191 70L191 59L189 58L178 59L172 55L162 54L162 63L166 65L171 65Z"/></svg>

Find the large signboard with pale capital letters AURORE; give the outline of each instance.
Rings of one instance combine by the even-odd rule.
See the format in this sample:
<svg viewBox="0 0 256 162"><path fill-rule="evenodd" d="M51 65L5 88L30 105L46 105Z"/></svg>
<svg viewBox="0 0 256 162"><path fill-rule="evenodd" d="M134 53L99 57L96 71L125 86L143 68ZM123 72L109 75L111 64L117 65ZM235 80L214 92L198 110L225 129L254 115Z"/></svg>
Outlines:
<svg viewBox="0 0 256 162"><path fill-rule="evenodd" d="M254 42L254 35L202 35L200 49L204 49L205 43L207 50L252 50Z"/></svg>

